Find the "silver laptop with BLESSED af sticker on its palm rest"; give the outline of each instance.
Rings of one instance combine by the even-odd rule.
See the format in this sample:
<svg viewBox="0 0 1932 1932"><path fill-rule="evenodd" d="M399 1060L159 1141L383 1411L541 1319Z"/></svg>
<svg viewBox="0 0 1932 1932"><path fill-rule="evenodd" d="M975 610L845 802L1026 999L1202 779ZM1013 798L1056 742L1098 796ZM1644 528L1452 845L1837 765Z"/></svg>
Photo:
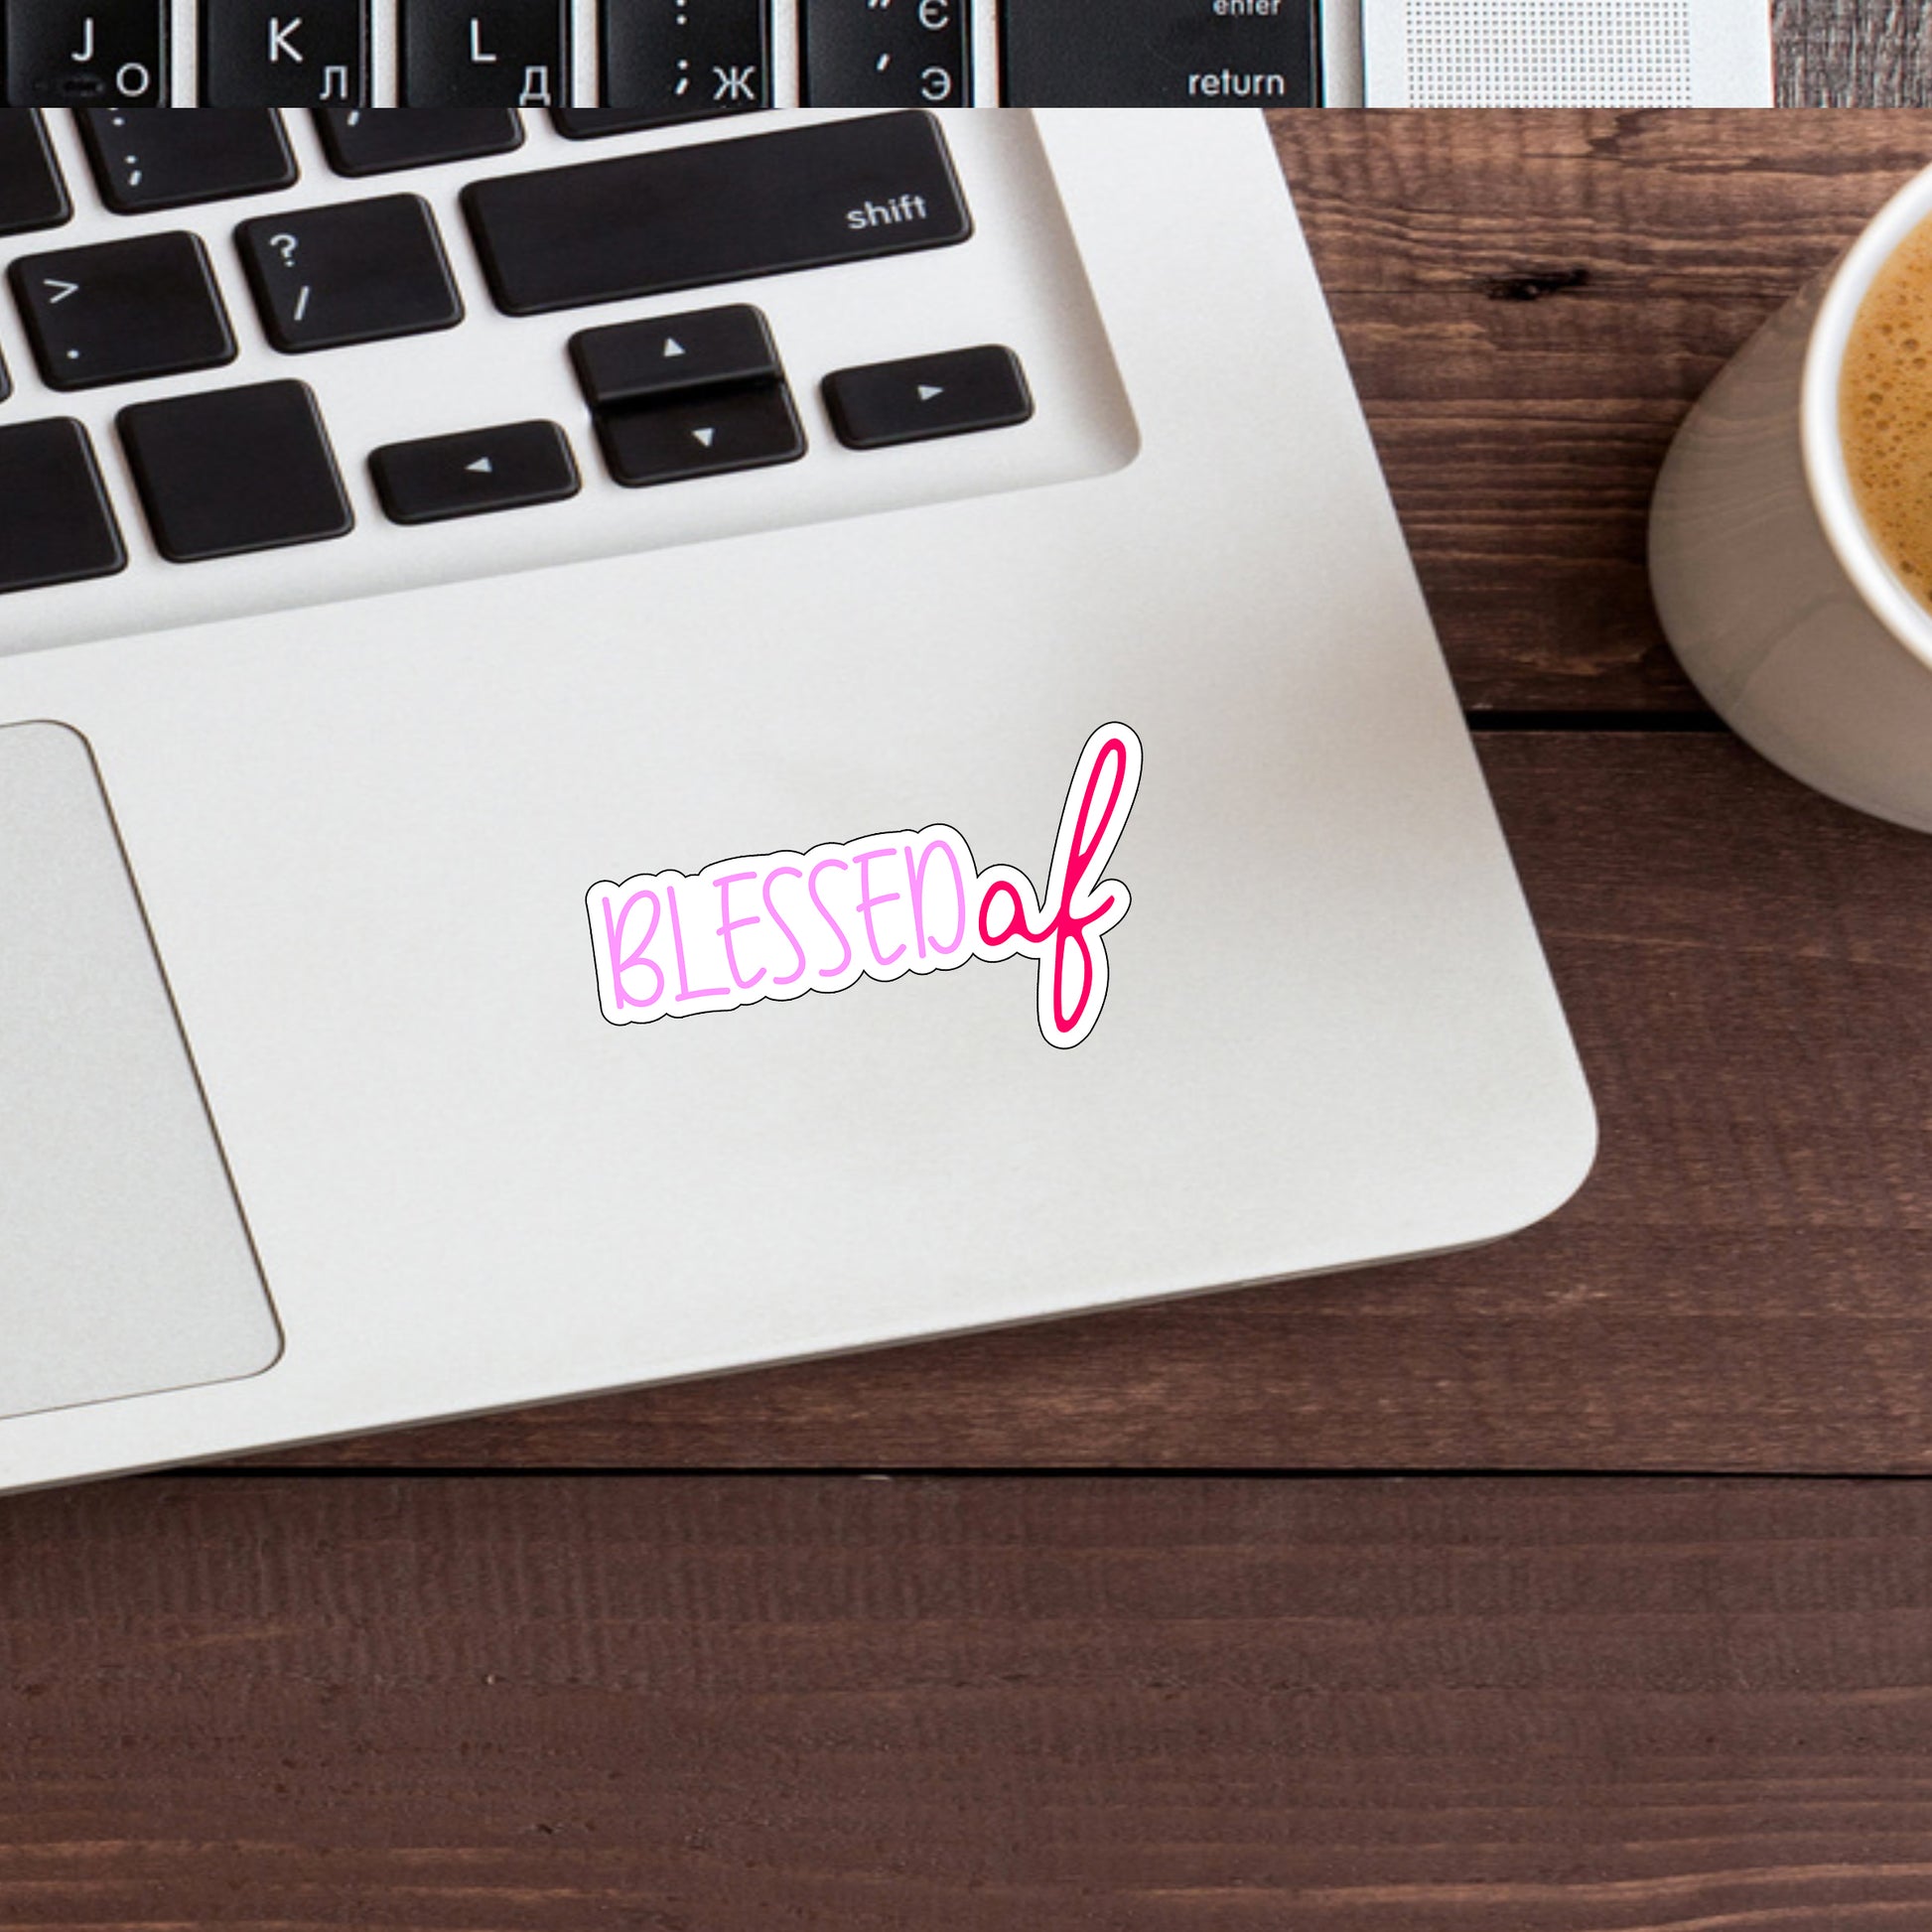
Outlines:
<svg viewBox="0 0 1932 1932"><path fill-rule="evenodd" d="M1578 1184L1258 116L6 129L0 1484Z"/></svg>

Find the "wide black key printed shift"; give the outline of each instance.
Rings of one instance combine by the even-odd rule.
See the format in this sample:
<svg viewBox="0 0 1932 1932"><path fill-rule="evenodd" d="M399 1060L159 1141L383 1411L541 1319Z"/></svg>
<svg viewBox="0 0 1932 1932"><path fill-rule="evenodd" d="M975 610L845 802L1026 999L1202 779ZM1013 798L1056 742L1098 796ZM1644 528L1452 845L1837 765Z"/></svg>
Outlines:
<svg viewBox="0 0 1932 1932"><path fill-rule="evenodd" d="M972 234L927 114L817 122L464 189L508 315L945 247Z"/></svg>

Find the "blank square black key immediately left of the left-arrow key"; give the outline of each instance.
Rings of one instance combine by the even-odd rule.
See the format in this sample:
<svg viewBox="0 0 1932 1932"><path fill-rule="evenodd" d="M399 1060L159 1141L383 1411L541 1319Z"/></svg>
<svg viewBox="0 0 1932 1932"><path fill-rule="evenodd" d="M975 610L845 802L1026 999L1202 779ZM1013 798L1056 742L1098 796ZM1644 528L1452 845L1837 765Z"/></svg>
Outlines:
<svg viewBox="0 0 1932 1932"><path fill-rule="evenodd" d="M257 383L122 410L122 448L172 564L346 537L328 433L307 383Z"/></svg>

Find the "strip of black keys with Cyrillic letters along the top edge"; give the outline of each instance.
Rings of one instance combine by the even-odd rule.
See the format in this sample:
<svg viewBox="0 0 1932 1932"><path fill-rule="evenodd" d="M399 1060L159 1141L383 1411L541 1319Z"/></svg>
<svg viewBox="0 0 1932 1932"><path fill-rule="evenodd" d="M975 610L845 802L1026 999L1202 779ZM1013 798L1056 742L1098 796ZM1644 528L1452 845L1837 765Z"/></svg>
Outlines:
<svg viewBox="0 0 1932 1932"><path fill-rule="evenodd" d="M1347 4L1347 0L1345 0ZM0 0L14 106L1314 106L1320 0Z"/></svg>

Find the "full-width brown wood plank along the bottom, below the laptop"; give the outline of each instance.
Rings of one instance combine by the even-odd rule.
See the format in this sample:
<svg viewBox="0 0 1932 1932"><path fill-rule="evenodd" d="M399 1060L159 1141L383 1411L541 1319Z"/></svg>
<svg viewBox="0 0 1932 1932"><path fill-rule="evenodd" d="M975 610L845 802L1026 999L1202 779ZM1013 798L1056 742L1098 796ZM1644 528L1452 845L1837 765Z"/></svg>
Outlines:
<svg viewBox="0 0 1932 1932"><path fill-rule="evenodd" d="M0 1509L0 1920L1932 1922L1924 1484L135 1482Z"/></svg>

